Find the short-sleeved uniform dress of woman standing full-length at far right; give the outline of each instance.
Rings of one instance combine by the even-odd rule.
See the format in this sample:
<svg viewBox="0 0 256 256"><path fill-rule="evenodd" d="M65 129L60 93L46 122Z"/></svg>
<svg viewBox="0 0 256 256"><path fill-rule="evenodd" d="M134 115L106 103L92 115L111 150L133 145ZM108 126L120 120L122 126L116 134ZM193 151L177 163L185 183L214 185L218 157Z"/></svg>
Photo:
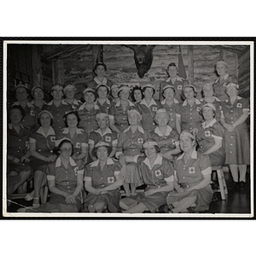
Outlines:
<svg viewBox="0 0 256 256"><path fill-rule="evenodd" d="M222 104L222 114L225 123L232 125L242 115L243 110L250 110L249 102L237 96L231 104L228 100ZM250 141L246 122L237 125L234 131L225 130L226 164L249 165Z"/></svg>

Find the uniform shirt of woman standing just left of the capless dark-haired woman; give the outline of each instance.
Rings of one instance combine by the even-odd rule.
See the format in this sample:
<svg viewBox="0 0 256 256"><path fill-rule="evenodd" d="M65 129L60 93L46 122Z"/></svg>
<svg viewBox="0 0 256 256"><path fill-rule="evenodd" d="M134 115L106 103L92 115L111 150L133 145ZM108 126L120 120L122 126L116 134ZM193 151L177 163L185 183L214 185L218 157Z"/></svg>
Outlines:
<svg viewBox="0 0 256 256"><path fill-rule="evenodd" d="M128 126L128 110L134 108L135 105L128 100L128 107L123 108L121 102L113 104L109 109L108 118L114 121L114 125L119 129L119 131L124 131Z"/></svg>

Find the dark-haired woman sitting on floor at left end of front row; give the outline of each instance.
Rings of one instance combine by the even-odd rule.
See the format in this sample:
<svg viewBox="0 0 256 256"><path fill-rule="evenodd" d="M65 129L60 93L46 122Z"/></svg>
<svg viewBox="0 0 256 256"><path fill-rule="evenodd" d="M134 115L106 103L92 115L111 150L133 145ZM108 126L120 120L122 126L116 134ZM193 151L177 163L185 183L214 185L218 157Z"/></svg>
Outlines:
<svg viewBox="0 0 256 256"><path fill-rule="evenodd" d="M46 171L51 192L49 202L38 208L20 208L18 212L79 212L84 166L78 166L71 157L73 143L69 139L55 141L55 147L58 158Z"/></svg>

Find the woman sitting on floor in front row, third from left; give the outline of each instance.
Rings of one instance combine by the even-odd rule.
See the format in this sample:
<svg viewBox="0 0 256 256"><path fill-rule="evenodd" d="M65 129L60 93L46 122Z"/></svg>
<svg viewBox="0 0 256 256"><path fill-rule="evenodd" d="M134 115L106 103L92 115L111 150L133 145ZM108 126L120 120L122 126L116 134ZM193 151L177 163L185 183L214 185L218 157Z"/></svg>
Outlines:
<svg viewBox="0 0 256 256"><path fill-rule="evenodd" d="M172 162L159 154L160 148L154 140L149 139L143 143L143 148L147 157L121 156L122 163L139 162L143 183L147 185L144 193L131 195L120 201L119 206L125 213L141 213L146 209L155 212L166 204L166 196L173 189Z"/></svg>

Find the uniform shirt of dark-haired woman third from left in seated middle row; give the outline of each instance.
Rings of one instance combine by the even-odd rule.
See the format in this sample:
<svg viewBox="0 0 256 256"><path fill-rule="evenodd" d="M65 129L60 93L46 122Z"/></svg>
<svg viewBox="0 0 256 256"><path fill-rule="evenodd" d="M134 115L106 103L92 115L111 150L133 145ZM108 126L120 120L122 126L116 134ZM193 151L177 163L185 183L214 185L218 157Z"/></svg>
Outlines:
<svg viewBox="0 0 256 256"><path fill-rule="evenodd" d="M76 128L75 134L73 137L71 137L68 127L63 128L57 133L57 139L59 140L63 137L67 137L72 141L73 155L81 154L82 147L88 148L88 133L86 133L83 129Z"/></svg>

